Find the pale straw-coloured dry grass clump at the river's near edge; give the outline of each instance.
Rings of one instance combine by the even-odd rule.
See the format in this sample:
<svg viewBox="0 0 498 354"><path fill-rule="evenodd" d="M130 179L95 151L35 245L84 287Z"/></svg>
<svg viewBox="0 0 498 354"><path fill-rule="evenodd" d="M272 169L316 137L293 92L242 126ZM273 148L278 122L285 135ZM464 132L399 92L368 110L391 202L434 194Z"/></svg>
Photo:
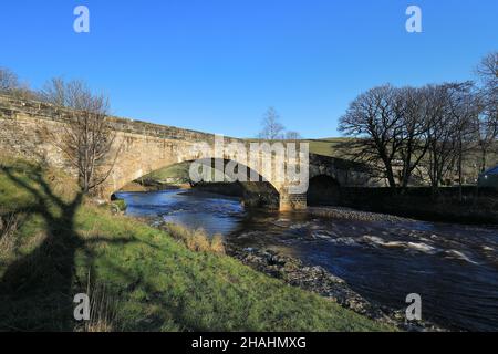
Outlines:
<svg viewBox="0 0 498 354"><path fill-rule="evenodd" d="M225 253L224 238L217 233L210 237L203 229L190 230L180 225L166 223L164 228L177 240L183 242L191 251Z"/></svg>

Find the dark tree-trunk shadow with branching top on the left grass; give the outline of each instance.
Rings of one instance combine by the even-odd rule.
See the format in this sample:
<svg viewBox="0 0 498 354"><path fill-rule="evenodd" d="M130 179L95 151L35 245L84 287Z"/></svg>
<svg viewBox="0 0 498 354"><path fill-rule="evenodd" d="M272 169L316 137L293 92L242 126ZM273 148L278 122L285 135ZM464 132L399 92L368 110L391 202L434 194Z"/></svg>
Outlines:
<svg viewBox="0 0 498 354"><path fill-rule="evenodd" d="M74 289L84 289L74 287L76 251L83 250L91 257L89 243L129 239L84 240L75 228L82 192L64 201L54 195L39 169L28 180L10 167L1 170L30 194L32 205L17 211L41 216L45 237L29 254L11 262L0 280L0 331L73 331Z"/></svg>

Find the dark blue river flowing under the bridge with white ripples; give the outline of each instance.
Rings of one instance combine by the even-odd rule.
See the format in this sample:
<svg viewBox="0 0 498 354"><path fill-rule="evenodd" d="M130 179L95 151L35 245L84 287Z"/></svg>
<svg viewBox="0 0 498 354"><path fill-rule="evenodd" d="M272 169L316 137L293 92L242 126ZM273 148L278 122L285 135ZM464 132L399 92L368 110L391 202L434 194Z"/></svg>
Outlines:
<svg viewBox="0 0 498 354"><path fill-rule="evenodd" d="M199 191L120 192L127 214L222 233L239 247L272 249L322 266L370 301L405 309L444 327L498 331L498 228L425 221L357 221L246 210Z"/></svg>

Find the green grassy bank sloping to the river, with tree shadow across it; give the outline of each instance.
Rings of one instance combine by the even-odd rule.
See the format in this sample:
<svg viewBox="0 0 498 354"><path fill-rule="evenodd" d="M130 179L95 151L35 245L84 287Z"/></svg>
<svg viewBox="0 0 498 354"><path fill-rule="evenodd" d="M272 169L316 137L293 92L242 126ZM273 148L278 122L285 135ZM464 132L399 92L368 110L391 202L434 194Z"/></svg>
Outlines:
<svg viewBox="0 0 498 354"><path fill-rule="evenodd" d="M0 215L19 217L11 254L0 259L0 331L393 330L113 216L62 173L14 159L0 165ZM77 293L93 298L90 323L73 319Z"/></svg>

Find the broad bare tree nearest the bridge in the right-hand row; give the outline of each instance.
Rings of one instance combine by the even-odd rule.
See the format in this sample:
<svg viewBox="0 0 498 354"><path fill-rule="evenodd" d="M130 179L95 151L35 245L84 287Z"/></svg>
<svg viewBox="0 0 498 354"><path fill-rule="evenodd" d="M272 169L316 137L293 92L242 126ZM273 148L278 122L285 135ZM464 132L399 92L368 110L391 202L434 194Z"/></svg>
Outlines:
<svg viewBox="0 0 498 354"><path fill-rule="evenodd" d="M396 187L398 177L405 189L428 149L426 122L423 90L385 85L357 97L340 129L360 138L352 144L356 158L382 166L390 186Z"/></svg>

